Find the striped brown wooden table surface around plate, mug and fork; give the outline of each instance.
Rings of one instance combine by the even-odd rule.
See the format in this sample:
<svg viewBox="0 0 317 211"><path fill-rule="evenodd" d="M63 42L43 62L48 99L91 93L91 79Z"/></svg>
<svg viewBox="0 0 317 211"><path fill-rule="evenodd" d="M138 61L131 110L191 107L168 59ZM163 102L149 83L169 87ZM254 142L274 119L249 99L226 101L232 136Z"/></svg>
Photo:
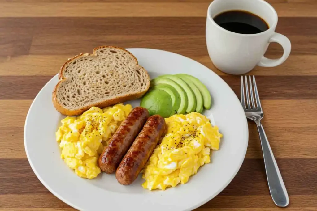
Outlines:
<svg viewBox="0 0 317 211"><path fill-rule="evenodd" d="M158 48L195 59L240 95L240 78L218 71L205 45L209 0L0 0L0 210L71 211L31 170L23 126L29 106L70 57L100 45ZM317 1L269 0L276 31L292 52L275 68L256 67L268 140L290 196L289 211L317 210ZM269 58L281 56L271 44ZM44 123L44 122L43 122ZM249 122L250 123L250 122ZM199 211L273 211L256 127L243 165ZM45 141L45 140L43 140ZM41 158L39 158L41 159Z"/></svg>

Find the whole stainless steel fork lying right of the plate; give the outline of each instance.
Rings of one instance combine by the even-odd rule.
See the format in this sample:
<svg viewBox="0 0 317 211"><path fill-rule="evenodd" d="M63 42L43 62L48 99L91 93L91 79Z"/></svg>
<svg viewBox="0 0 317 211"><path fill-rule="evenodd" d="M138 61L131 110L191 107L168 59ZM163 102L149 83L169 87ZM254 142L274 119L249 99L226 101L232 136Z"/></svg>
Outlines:
<svg viewBox="0 0 317 211"><path fill-rule="evenodd" d="M252 86L253 81L253 86ZM246 95L244 95L244 90ZM249 92L250 90L250 92ZM254 90L254 96L253 96ZM251 101L250 101L251 100ZM247 101L247 103L245 103ZM264 132L264 129L261 125L261 119L263 118L263 111L260 103L259 93L256 87L256 79L253 76L249 76L249 85L248 78L245 76L245 86L243 83L243 76L241 77L241 104L243 106L245 115L248 119L256 122L256 126L259 131L259 136L261 140L261 146L263 151L264 165L266 171L266 177L268 179L268 187L272 199L276 206L286 207L289 203L289 198L287 194L286 187L284 185L280 170L276 164L272 149L268 143L268 138Z"/></svg>

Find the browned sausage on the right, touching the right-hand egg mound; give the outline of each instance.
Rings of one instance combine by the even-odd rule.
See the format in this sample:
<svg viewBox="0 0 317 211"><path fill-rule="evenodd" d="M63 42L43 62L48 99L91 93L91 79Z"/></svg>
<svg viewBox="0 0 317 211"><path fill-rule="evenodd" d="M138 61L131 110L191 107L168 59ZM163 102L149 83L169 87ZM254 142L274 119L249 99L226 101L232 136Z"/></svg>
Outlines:
<svg viewBox="0 0 317 211"><path fill-rule="evenodd" d="M129 185L138 177L163 137L165 127L165 120L160 115L153 115L146 121L116 171L116 178L120 184Z"/></svg>

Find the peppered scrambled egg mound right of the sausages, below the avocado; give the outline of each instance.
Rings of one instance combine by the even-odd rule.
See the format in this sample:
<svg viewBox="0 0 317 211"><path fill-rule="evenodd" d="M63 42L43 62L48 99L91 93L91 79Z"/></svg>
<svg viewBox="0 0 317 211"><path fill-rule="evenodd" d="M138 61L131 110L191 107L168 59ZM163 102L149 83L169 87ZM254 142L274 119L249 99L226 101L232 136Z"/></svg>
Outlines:
<svg viewBox="0 0 317 211"><path fill-rule="evenodd" d="M218 127L197 112L165 118L165 137L143 169L145 189L175 187L187 183L200 166L210 163L210 149L218 150Z"/></svg>

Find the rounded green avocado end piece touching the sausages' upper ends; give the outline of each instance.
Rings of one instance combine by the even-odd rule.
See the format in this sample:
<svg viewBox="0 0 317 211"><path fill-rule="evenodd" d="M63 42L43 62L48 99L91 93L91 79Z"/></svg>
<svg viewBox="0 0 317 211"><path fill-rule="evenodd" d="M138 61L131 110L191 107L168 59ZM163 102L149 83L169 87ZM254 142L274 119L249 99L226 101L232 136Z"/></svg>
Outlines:
<svg viewBox="0 0 317 211"><path fill-rule="evenodd" d="M152 89L141 99L140 106L149 111L150 116L158 114L163 118L175 113L171 96L164 90Z"/></svg>

